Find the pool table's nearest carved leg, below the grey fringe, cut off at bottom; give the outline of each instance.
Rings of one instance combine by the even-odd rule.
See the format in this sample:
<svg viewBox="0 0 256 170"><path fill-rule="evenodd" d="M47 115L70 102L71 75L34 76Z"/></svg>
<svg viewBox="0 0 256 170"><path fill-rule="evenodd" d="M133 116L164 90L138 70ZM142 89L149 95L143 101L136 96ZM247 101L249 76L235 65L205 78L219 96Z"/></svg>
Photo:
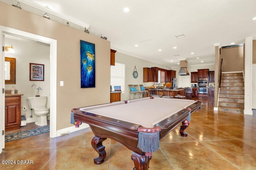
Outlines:
<svg viewBox="0 0 256 170"><path fill-rule="evenodd" d="M133 160L135 166L133 170L148 170L151 156L145 156L132 152L131 159Z"/></svg>

